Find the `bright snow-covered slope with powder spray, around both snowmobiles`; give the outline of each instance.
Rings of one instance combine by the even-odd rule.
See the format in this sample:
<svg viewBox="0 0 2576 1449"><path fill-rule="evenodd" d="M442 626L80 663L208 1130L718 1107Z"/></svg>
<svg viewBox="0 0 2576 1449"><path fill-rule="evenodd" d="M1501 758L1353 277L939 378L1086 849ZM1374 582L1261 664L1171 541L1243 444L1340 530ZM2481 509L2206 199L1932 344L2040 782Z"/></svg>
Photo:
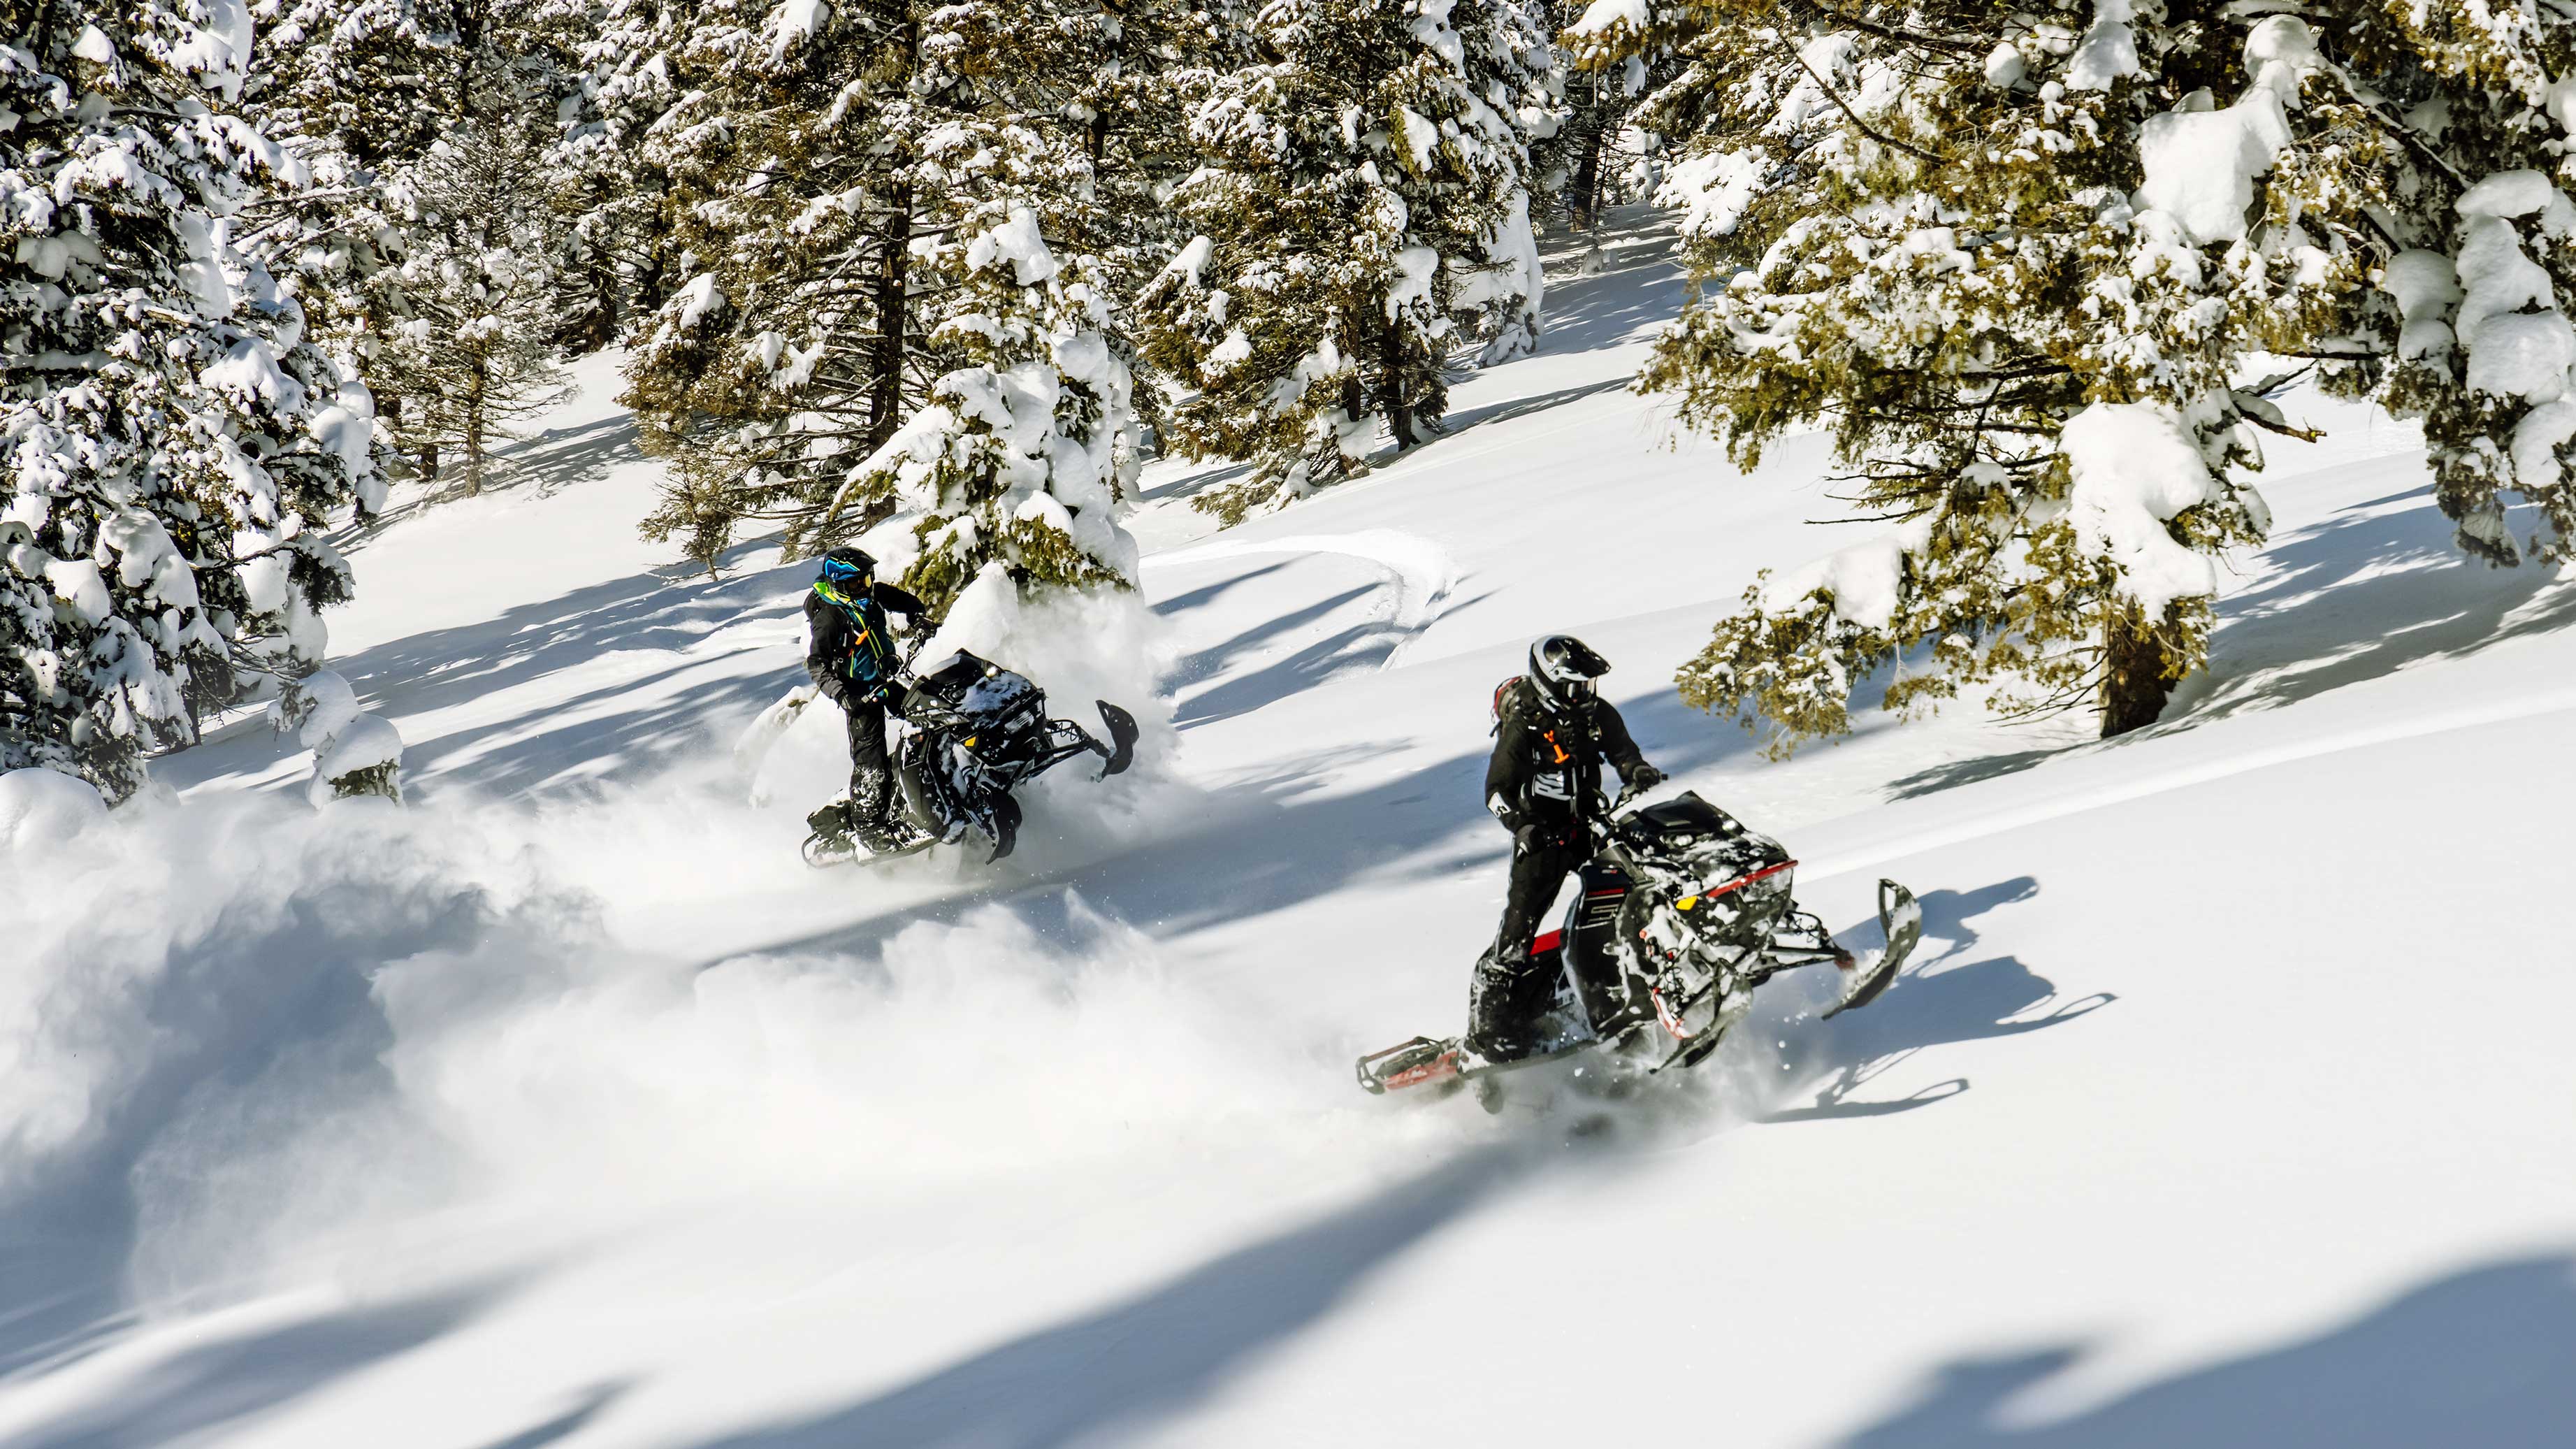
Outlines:
<svg viewBox="0 0 2576 1449"><path fill-rule="evenodd" d="M1610 255L1363 482L1211 534L1224 469L1157 469L1170 724L999 869L806 871L827 719L747 802L804 570L636 541L590 364L353 554L412 810L314 817L242 722L10 861L0 1444L2576 1441L2576 588L2306 400L2164 724L1767 763L1669 676L1847 541L1824 462L1672 438L1623 382L1677 278ZM1350 1085L1461 1016L1543 629L1832 926L1927 913L1607 1132Z"/></svg>

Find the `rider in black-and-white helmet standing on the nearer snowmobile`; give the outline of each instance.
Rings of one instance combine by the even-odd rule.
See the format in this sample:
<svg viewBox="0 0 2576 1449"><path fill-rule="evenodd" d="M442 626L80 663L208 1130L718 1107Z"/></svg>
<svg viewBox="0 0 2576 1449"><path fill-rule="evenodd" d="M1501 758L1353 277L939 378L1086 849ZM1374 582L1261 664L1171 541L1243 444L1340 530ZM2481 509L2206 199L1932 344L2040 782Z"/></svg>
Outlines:
<svg viewBox="0 0 2576 1449"><path fill-rule="evenodd" d="M1530 645L1530 673L1494 691L1484 807L1512 833L1512 890L1494 946L1476 959L1466 1006L1466 1047L1489 1062L1530 1055L1530 1029L1556 993L1556 964L1530 962L1530 938L1566 874L1592 856L1602 758L1628 786L1620 799L1664 784L1664 771L1628 737L1628 722L1595 691L1605 673L1610 663L1582 639L1548 634Z"/></svg>

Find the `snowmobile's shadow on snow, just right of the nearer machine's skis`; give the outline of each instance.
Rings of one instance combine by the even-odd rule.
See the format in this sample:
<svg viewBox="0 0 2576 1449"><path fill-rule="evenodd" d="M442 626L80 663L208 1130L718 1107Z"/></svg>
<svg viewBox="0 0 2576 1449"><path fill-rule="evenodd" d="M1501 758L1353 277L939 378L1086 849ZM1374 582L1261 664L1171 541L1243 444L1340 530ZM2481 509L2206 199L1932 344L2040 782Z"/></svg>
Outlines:
<svg viewBox="0 0 2576 1449"><path fill-rule="evenodd" d="M1855 1101L1855 1093L1883 1078L1919 1052L1955 1047L1960 1042L1991 1042L2063 1026L2089 1016L2117 995L2092 993L2058 1000L2058 985L2017 957L1978 957L1978 931L1971 920L2035 900L2040 882L2014 877L1973 892L1932 890L1919 897L1924 913L1924 944L1942 944L1929 959L1919 959L1888 985L1886 995L1870 1006L1832 1021L1803 1018L1803 1008L1772 1006L1765 1026L1754 1026L1793 1044L1801 1060L1829 1062L1821 1078L1808 1075L1793 1088L1811 1096L1803 1106L1775 1106L1754 1111L1757 1122L1826 1122L1839 1116L1886 1116L1932 1106L1968 1091L1968 1078L1950 1078L1893 1101ZM1875 923L1842 933L1850 946L1875 946ZM1777 998L1775 998L1777 1000ZM1747 1024L1752 1026L1752 1024ZM1783 1093L1788 1096L1788 1093Z"/></svg>

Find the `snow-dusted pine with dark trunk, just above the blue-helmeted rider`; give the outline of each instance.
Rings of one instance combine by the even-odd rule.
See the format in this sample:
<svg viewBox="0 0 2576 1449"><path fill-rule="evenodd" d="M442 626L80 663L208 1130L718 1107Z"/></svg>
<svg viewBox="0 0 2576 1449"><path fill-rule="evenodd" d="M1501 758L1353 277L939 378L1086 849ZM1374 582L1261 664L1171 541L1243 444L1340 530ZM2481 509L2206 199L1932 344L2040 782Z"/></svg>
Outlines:
<svg viewBox="0 0 2576 1449"><path fill-rule="evenodd" d="M652 113L629 134L667 178L675 260L626 369L644 449L670 462L644 534L714 570L744 521L786 523L791 549L881 523L876 500L824 513L927 382L912 5L652 8L623 52L608 64Z"/></svg>

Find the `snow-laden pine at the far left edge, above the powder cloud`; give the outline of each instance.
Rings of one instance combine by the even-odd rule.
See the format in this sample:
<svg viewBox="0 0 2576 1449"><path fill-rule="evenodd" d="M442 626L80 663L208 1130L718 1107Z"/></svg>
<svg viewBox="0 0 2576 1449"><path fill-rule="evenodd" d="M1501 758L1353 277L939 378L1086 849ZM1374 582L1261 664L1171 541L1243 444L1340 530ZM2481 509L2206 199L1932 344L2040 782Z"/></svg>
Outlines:
<svg viewBox="0 0 2576 1449"><path fill-rule="evenodd" d="M374 487L371 407L237 242L301 186L240 103L240 0L39 0L0 46L0 768L108 799L245 670L322 655L325 508Z"/></svg>

